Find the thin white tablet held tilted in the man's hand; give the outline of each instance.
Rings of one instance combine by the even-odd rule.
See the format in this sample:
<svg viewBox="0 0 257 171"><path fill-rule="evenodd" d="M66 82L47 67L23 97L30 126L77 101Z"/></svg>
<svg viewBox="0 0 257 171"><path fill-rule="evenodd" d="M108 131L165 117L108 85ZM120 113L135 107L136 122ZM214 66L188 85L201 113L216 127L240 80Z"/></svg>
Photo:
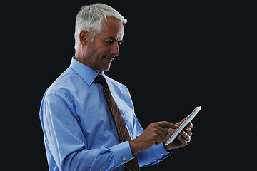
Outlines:
<svg viewBox="0 0 257 171"><path fill-rule="evenodd" d="M193 120L193 118L196 116L196 114L201 110L201 106L196 107L193 112L188 116L188 118L186 118L186 120L183 121L183 123L177 128L177 130L175 131L175 133L173 133L173 135L171 135L171 138L169 138L167 140L167 142L165 143L165 145L168 145L169 143L173 142L173 140L175 140L175 138L178 136L179 133L181 133L181 131L183 130L183 128L185 128L185 126L191 122L191 120Z"/></svg>

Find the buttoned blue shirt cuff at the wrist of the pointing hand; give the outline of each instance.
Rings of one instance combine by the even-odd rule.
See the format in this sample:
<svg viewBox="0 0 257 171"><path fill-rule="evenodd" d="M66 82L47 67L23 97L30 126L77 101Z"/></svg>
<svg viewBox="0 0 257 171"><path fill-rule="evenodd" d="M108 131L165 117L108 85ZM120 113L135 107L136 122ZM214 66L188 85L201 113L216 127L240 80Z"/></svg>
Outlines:
<svg viewBox="0 0 257 171"><path fill-rule="evenodd" d="M114 154L114 160L116 161L117 166L123 165L124 163L129 162L129 160L134 158L131 152L129 141L114 145L111 147L111 150Z"/></svg>

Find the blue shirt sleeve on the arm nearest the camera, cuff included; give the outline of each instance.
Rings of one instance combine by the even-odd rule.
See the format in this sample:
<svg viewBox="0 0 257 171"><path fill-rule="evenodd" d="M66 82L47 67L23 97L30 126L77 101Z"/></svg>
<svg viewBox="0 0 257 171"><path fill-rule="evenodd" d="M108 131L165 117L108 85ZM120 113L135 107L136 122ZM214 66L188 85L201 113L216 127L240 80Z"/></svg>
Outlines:
<svg viewBox="0 0 257 171"><path fill-rule="evenodd" d="M59 170L113 170L133 158L129 141L88 150L72 100L62 93L46 95L41 104L44 138ZM51 166L49 166L51 167Z"/></svg>

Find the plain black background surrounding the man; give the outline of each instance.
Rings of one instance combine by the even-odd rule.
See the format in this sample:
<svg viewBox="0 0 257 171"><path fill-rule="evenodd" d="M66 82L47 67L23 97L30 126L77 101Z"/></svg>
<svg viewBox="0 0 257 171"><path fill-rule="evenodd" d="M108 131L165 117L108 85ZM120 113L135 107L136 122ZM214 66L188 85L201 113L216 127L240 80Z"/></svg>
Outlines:
<svg viewBox="0 0 257 171"><path fill-rule="evenodd" d="M1 6L2 115L8 124L2 132L9 165L47 170L41 98L74 56L79 7L96 2ZM190 144L141 170L252 170L257 152L253 4L101 2L128 19L120 56L105 73L129 88L142 127L176 123L202 106Z"/></svg>

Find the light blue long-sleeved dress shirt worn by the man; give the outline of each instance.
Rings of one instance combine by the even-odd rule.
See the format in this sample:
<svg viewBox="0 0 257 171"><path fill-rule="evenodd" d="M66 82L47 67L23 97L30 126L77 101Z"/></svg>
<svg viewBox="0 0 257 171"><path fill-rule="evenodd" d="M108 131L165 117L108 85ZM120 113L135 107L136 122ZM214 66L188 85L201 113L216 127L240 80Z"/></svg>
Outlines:
<svg viewBox="0 0 257 171"><path fill-rule="evenodd" d="M132 140L143 132L134 113L128 88L104 74ZM98 73L75 58L46 90L41 102L40 120L49 170L126 170L133 159L129 141L119 137ZM138 152L140 167L168 157L163 143Z"/></svg>

